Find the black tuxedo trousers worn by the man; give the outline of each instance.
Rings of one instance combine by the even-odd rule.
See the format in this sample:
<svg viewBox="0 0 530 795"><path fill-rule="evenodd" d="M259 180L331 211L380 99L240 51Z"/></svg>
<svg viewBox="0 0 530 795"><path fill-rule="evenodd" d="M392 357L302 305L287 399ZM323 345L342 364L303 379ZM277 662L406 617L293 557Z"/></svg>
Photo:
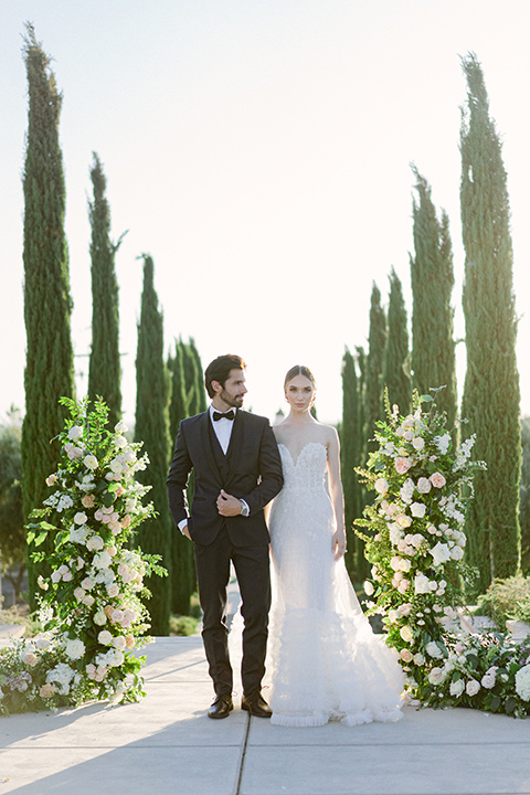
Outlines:
<svg viewBox="0 0 530 795"><path fill-rule="evenodd" d="M267 650L268 611L271 610L271 569L268 544L234 545L223 523L212 543L194 543L199 597L203 612L202 639L216 696L231 695L232 666L229 655L226 596L230 563L234 564L244 619L241 680L247 696L262 687Z"/></svg>

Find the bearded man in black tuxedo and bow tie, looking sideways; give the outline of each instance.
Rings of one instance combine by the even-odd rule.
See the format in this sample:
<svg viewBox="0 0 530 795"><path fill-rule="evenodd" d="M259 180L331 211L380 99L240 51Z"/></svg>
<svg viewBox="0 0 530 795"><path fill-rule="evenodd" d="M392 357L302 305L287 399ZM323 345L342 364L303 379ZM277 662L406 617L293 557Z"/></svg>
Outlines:
<svg viewBox="0 0 530 795"><path fill-rule="evenodd" d="M245 623L241 707L258 718L272 714L261 695L271 607L269 537L263 509L282 489L283 476L268 421L241 410L244 371L245 363L236 356L218 357L208 365L204 382L212 404L180 423L168 476L174 523L194 544L202 638L216 696L210 718L226 718L234 708L226 627L231 561ZM186 487L192 469L194 494L188 511Z"/></svg>

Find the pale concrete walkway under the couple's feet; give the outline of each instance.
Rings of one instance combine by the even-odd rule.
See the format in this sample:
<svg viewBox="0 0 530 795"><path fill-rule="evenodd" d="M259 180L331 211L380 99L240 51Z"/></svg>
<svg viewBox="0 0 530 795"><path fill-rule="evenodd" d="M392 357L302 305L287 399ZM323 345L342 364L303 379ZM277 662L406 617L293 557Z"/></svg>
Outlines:
<svg viewBox="0 0 530 795"><path fill-rule="evenodd" d="M530 793L530 720L406 708L401 723L283 729L237 708L212 721L201 638L146 653L138 704L0 718L0 795Z"/></svg>

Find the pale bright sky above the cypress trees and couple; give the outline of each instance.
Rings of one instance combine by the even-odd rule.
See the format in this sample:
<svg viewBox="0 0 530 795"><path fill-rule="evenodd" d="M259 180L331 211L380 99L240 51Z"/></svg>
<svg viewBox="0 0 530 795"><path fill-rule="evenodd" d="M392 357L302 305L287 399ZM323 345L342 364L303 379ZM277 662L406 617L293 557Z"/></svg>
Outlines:
<svg viewBox="0 0 530 795"><path fill-rule="evenodd" d="M411 312L412 161L449 214L462 338L459 56L473 51L504 140L521 410L530 413L528 0L2 0L1 418L24 401L25 20L64 95L80 396L91 342L93 151L108 180L113 236L129 230L116 258L129 421L137 257L147 252L168 349L182 335L195 338L204 365L219 353L243 356L246 406L271 417L285 405L285 372L305 363L317 378L319 418L337 422L344 346L365 344L372 283L386 303L392 266ZM464 361L460 344L460 394Z"/></svg>

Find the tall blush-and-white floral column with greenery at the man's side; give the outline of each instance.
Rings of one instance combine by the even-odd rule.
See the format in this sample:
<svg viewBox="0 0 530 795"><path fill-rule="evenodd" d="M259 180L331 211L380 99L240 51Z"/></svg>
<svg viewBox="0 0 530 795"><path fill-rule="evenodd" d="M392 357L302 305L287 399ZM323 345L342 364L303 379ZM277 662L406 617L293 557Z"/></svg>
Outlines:
<svg viewBox="0 0 530 795"><path fill-rule="evenodd" d="M150 642L144 577L166 573L157 555L130 548L136 528L155 512L141 502L150 487L135 479L147 455L124 436L123 422L106 428L103 401L92 411L86 400L61 403L71 418L59 435L60 467L46 479L53 492L33 511L28 532L36 561L44 559L39 547L53 539L51 576L38 581L43 630L0 649L0 714L145 695L146 658L132 654Z"/></svg>

